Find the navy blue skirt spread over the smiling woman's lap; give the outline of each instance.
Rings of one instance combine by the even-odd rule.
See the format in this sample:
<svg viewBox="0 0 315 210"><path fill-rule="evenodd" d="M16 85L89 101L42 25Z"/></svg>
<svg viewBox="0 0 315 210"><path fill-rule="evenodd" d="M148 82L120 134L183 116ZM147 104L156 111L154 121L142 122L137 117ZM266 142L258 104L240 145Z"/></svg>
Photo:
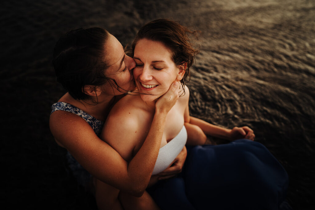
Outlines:
<svg viewBox="0 0 315 210"><path fill-rule="evenodd" d="M162 210L278 209L288 174L267 148L238 139L187 148L182 173L147 189Z"/></svg>

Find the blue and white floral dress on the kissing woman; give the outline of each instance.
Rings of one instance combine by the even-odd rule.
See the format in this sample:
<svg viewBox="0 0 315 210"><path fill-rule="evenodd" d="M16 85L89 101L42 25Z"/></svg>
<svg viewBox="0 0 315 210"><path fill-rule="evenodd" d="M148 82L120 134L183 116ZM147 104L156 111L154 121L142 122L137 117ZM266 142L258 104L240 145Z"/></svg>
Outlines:
<svg viewBox="0 0 315 210"><path fill-rule="evenodd" d="M65 102L57 102L51 106L51 113L57 110L68 111L73 114L76 114L82 117L89 125L93 128L94 132L97 136L100 136L102 131L104 122L96 119L95 117L89 115L88 113L82 111L81 109L65 103ZM87 172L77 161L74 157L68 152L67 153L67 161L69 164L69 168L72 170L74 177L77 179L77 182L82 186L87 186L91 181L91 174Z"/></svg>

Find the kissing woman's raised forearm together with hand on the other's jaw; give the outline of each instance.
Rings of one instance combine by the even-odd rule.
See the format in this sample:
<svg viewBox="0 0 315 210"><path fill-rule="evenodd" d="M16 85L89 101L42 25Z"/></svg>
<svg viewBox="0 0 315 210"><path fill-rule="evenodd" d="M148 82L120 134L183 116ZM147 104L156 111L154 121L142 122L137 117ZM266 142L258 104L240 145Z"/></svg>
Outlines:
<svg viewBox="0 0 315 210"><path fill-rule="evenodd" d="M150 181L161 145L166 116L179 97L178 84L179 82L173 82L169 90L157 100L155 114L146 139L128 163L126 174L128 178L123 187L129 185L125 187L125 191L133 196L142 196Z"/></svg>

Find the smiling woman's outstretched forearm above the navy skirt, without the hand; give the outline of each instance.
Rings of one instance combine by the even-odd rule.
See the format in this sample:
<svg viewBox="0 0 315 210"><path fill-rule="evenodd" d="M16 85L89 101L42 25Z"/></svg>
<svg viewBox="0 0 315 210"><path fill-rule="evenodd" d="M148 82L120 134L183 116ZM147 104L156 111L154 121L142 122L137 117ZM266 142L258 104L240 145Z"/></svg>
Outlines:
<svg viewBox="0 0 315 210"><path fill-rule="evenodd" d="M230 136L231 129L222 128L220 126L210 124L209 122L205 122L201 119L192 116L190 116L189 119L190 119L189 123L199 126L207 135L211 135L221 139L231 139Z"/></svg>

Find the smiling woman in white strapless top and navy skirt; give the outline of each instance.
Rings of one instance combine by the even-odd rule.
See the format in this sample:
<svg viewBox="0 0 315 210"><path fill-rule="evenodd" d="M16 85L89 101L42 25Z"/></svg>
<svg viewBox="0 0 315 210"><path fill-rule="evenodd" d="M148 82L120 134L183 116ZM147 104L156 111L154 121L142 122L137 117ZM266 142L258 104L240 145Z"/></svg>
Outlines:
<svg viewBox="0 0 315 210"><path fill-rule="evenodd" d="M156 101L166 93L174 81L180 83L176 90L180 97L166 116L158 161L154 168L155 175L151 177L149 186L155 184L159 176L163 175L159 172L172 165L172 158L176 157L186 140L187 145L202 145L206 139L205 134L230 140L241 139L223 146L193 147L192 156L187 156L185 171L179 177L159 182L149 189L157 205L162 209L228 209L231 204L221 201L225 195L235 194L232 202L240 205L242 209L253 207L253 203L261 205L255 206L254 209L278 207L284 198L287 174L263 145L252 141L255 138L253 131L248 127L221 128L189 115L189 89L185 81L197 50L192 48L185 28L174 21L154 20L141 27L132 50L136 62L133 75L137 91L141 94L127 95L117 102L101 135L125 161L132 160L145 142L155 113ZM176 145L179 148L176 148ZM199 153L199 150L202 151ZM220 154L224 153L220 151L226 151L225 156L229 158L221 157ZM220 156L216 156L217 154ZM253 161L252 164L247 164L247 160ZM260 163L259 168L256 163ZM219 170L220 165L228 165L229 168ZM242 175L233 177L231 172L237 168L242 170L234 173ZM220 180L226 174L229 177ZM248 179L252 174L258 174L258 178ZM248 183L243 183L244 180ZM221 187L226 188L216 187L214 190L219 183L222 184ZM232 191L226 193L229 189ZM125 209L132 209L134 205L142 205L147 209L157 208L151 200L129 196L110 185L99 190L104 194L119 197ZM243 200L239 198L252 195L250 190L259 193L255 194L256 198L249 197L249 202L243 204ZM209 204L211 193L215 193L218 198L211 200ZM264 197L260 197L262 195Z"/></svg>

